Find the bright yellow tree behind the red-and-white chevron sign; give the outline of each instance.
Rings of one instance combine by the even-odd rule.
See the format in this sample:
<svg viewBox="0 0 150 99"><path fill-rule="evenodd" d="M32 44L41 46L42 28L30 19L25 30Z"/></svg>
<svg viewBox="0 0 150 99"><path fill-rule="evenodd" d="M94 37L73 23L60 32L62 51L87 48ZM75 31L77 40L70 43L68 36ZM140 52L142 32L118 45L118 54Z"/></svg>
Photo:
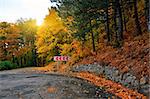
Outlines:
<svg viewBox="0 0 150 99"><path fill-rule="evenodd" d="M65 31L56 8L52 7L37 32L36 46L38 55L42 58L42 63L48 63L54 55L60 55L61 46L68 42L69 35Z"/></svg>

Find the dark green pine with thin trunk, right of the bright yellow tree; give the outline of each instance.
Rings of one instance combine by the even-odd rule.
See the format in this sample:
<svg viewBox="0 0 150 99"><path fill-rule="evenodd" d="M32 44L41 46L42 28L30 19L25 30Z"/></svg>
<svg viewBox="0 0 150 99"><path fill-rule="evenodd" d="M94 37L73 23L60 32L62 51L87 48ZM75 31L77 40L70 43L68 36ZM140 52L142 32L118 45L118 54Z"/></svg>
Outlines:
<svg viewBox="0 0 150 99"><path fill-rule="evenodd" d="M95 52L96 33L94 33L93 30L98 29L101 23L100 21L103 21L102 17L104 17L105 14L102 13L101 10L103 11L107 6L106 0L52 0L52 2L59 2L59 14L65 23L67 23L65 19L70 16L73 17L72 24L69 24L69 28L74 28L75 38L83 43L91 39L93 51Z"/></svg>

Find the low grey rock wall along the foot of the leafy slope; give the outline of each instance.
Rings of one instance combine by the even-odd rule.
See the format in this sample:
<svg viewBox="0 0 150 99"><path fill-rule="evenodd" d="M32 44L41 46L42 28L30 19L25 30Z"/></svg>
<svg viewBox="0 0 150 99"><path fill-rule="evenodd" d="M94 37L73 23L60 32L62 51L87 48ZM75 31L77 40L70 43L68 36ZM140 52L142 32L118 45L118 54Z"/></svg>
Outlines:
<svg viewBox="0 0 150 99"><path fill-rule="evenodd" d="M98 63L73 66L71 68L73 72L91 72L96 75L104 75L107 79L120 83L130 89L138 90L138 92L148 96L150 84L148 82L148 76L138 79L130 72L121 73L118 69L112 66L101 66Z"/></svg>

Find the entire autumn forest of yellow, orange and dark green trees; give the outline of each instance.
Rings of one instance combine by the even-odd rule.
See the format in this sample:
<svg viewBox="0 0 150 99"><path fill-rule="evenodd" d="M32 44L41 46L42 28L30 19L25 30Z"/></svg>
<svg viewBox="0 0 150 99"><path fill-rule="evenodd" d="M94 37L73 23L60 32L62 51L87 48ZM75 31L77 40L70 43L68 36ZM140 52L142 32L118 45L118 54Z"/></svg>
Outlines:
<svg viewBox="0 0 150 99"><path fill-rule="evenodd" d="M0 70L45 66L54 62L54 56L69 56L63 64L74 65L149 35L148 0L51 2L54 6L41 26L34 19L0 22Z"/></svg>

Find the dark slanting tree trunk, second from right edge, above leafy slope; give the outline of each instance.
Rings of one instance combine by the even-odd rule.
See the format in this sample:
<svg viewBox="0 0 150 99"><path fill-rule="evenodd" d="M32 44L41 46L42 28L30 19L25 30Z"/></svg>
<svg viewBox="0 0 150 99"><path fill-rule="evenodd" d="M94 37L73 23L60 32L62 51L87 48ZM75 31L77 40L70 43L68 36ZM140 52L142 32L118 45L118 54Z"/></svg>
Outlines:
<svg viewBox="0 0 150 99"><path fill-rule="evenodd" d="M134 17L135 17L135 25L136 25L136 35L141 35L141 26L140 26L140 21L139 21L139 16L138 16L138 10L137 10L137 0L134 0Z"/></svg>

